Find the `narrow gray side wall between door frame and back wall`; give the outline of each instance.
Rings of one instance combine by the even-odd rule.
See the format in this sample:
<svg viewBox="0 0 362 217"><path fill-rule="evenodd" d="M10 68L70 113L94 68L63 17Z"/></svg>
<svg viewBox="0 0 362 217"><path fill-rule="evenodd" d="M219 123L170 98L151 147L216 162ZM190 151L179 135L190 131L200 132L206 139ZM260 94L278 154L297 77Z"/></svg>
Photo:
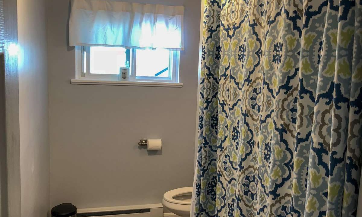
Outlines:
<svg viewBox="0 0 362 217"><path fill-rule="evenodd" d="M49 209L49 100L45 0L17 0L21 216Z"/></svg>

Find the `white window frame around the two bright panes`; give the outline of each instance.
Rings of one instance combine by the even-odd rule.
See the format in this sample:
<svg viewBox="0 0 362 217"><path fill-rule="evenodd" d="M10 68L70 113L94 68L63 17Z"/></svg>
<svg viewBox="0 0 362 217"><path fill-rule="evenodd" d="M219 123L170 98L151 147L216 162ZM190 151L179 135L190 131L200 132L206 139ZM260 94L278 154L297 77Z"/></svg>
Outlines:
<svg viewBox="0 0 362 217"><path fill-rule="evenodd" d="M90 73L90 47L76 46L76 79L75 80L95 80L95 81L124 81L118 80L118 74L91 74ZM178 83L179 82L179 62L180 51L170 51L169 77L141 77L136 76L136 51L131 49L130 59L130 78L125 82L160 82L160 83ZM84 58L85 55L85 58ZM85 68L85 70L84 70Z"/></svg>

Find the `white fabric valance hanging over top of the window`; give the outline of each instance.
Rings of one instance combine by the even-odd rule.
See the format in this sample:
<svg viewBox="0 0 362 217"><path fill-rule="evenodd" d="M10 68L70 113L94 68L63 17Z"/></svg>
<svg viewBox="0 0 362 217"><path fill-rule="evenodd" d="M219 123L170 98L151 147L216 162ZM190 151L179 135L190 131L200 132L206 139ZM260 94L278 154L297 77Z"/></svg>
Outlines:
<svg viewBox="0 0 362 217"><path fill-rule="evenodd" d="M184 7L72 0L69 46L183 50Z"/></svg>

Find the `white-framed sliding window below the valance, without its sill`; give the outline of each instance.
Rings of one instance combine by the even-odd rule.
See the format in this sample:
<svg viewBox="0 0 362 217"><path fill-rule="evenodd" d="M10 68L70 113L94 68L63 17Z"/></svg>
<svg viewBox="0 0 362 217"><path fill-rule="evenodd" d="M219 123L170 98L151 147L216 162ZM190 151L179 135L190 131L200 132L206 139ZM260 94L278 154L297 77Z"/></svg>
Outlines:
<svg viewBox="0 0 362 217"><path fill-rule="evenodd" d="M119 81L120 68L130 70L127 82L178 82L179 51L123 47L76 46L76 79Z"/></svg>

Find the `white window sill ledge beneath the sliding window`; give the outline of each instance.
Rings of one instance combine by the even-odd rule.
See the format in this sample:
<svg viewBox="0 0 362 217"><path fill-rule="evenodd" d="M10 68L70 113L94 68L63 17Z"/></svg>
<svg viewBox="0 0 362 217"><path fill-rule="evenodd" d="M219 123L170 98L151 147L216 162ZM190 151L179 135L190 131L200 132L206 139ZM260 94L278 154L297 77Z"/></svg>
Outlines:
<svg viewBox="0 0 362 217"><path fill-rule="evenodd" d="M71 84L88 85L121 85L121 86L147 86L147 87L170 87L182 88L184 84L179 82L164 81L115 81L115 80L92 80L92 79L72 79Z"/></svg>

